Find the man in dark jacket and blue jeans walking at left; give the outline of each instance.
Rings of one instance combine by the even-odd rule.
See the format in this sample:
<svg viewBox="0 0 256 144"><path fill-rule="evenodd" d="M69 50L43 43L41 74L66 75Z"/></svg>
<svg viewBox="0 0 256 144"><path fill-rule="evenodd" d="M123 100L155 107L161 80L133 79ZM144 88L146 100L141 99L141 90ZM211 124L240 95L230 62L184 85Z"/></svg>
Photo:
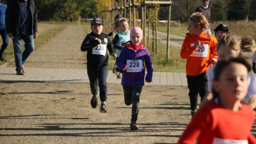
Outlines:
<svg viewBox="0 0 256 144"><path fill-rule="evenodd" d="M6 30L12 38L16 74L24 75L24 63L35 48L37 38L37 11L33 0L8 0L6 10ZM22 53L22 40L25 50Z"/></svg>

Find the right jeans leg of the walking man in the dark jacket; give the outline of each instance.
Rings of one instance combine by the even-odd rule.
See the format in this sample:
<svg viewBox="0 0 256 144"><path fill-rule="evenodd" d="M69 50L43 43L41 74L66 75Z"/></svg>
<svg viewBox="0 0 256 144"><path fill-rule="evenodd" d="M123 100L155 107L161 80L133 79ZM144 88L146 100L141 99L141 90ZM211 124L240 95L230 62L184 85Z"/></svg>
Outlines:
<svg viewBox="0 0 256 144"><path fill-rule="evenodd" d="M34 37L33 35L30 36L22 36L23 41L25 42L25 50L22 53L22 64L24 64L28 58L28 56L33 52L35 49L34 44Z"/></svg>

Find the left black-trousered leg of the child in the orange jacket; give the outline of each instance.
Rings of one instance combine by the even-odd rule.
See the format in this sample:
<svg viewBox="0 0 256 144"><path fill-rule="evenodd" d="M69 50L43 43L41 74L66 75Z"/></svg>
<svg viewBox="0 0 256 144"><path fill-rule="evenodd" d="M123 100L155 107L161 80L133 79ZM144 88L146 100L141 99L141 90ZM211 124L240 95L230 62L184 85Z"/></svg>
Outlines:
<svg viewBox="0 0 256 144"><path fill-rule="evenodd" d="M197 98L198 98L198 87L199 80L198 76L187 76L188 88L189 88L189 99L190 99L190 109L197 109Z"/></svg>

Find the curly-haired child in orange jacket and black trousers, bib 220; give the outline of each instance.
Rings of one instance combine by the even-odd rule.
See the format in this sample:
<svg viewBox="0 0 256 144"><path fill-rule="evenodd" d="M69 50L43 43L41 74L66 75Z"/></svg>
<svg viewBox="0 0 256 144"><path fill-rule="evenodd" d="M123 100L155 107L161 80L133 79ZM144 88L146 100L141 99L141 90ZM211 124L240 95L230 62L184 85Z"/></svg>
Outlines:
<svg viewBox="0 0 256 144"><path fill-rule="evenodd" d="M205 33L207 28L207 19L200 12L193 13L189 18L189 33L186 34L181 49L181 58L187 59L186 75L192 116L198 109L198 93L202 100L207 92L206 72L218 59L218 42L213 36Z"/></svg>

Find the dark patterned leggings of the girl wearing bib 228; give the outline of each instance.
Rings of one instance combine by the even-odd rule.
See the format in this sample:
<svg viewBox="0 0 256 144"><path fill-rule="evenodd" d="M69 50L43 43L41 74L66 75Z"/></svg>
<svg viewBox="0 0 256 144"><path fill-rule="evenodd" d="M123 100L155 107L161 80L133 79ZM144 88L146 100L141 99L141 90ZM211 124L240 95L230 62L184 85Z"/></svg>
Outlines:
<svg viewBox="0 0 256 144"><path fill-rule="evenodd" d="M136 122L139 112L139 96L141 93L143 85L137 86L125 86L123 85L124 90L124 101L127 106L132 104L132 117L131 121Z"/></svg>

